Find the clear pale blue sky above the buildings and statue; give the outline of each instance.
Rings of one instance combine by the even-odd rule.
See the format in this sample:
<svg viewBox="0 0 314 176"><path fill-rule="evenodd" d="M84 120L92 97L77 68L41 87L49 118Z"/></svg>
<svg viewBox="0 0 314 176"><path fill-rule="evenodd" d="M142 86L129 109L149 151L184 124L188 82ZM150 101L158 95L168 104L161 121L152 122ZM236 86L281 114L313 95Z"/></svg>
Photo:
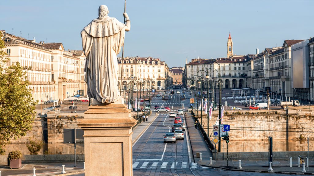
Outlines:
<svg viewBox="0 0 314 176"><path fill-rule="evenodd" d="M102 4L123 23L124 0L2 0L0 29L81 50L80 32ZM314 37L313 7L311 0L127 0L124 57L151 56L169 67L226 57L229 33L234 54L255 54Z"/></svg>

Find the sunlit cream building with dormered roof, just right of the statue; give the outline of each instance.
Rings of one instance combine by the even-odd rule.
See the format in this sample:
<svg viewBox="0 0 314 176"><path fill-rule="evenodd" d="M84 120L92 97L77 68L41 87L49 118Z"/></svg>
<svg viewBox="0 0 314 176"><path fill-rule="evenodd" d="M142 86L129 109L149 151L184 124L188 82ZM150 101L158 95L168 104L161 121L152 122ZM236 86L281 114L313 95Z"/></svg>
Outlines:
<svg viewBox="0 0 314 176"><path fill-rule="evenodd" d="M122 71L122 85L126 89L129 89L131 83L134 85L134 81L131 78L135 76L137 80L147 82L144 87L157 89L166 88L172 85L172 73L170 72L165 61L155 59L152 57L126 57L123 59L118 58L118 87L120 89L121 71ZM146 80L146 81L144 81ZM136 86L136 85L134 85ZM134 87L133 87L134 88ZM135 87L136 88L136 87ZM138 87L139 89L140 87Z"/></svg>

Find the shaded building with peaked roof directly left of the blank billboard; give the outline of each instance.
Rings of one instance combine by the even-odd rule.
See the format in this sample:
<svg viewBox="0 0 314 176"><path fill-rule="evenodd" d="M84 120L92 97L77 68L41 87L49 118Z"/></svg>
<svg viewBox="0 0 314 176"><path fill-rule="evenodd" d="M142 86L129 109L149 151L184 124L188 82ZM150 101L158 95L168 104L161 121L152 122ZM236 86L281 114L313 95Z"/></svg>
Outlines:
<svg viewBox="0 0 314 176"><path fill-rule="evenodd" d="M303 40L285 40L281 49L269 55L269 86L282 97L292 96L291 45Z"/></svg>

